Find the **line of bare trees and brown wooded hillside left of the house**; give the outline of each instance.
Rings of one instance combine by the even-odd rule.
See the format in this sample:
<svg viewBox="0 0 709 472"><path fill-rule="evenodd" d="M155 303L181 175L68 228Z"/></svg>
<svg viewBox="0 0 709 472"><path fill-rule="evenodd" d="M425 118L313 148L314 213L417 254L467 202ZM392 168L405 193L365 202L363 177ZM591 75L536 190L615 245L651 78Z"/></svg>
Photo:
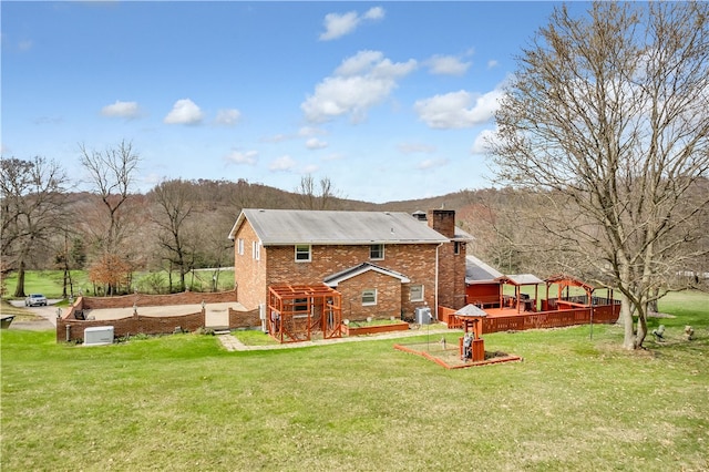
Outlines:
<svg viewBox="0 0 709 472"><path fill-rule="evenodd" d="M71 271L78 269L88 270L103 295L131 291L137 270L165 270L169 290L183 291L191 270L233 266L227 235L242 208L356 205L339 198L328 177L311 175L294 192L245 179L177 178L141 194L134 189L141 158L127 141L104 151L81 144L78 158L89 192L71 192L65 171L53 160L0 161L0 270L3 280L17 274L14 297L25 296L27 269L61 269L65 297L73 295Z"/></svg>

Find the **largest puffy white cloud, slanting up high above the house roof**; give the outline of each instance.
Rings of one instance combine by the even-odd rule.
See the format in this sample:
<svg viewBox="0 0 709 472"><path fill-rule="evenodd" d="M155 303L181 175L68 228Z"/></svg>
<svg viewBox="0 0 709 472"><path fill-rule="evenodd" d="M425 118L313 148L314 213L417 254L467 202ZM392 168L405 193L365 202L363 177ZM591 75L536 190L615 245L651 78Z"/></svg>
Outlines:
<svg viewBox="0 0 709 472"><path fill-rule="evenodd" d="M367 110L381 103L395 89L397 80L417 68L417 61L393 63L379 51L360 51L342 61L333 75L316 85L300 104L309 122L325 122L341 115L363 120Z"/></svg>

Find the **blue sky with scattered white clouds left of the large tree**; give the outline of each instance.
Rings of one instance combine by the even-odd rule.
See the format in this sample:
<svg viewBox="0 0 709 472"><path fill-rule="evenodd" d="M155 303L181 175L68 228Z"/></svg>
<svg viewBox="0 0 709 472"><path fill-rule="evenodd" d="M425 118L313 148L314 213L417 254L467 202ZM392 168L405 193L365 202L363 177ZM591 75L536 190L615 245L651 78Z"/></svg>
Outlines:
<svg viewBox="0 0 709 472"><path fill-rule="evenodd" d="M80 144L131 141L142 192L306 174L376 203L487 187L482 136L553 7L2 1L2 155L80 183Z"/></svg>

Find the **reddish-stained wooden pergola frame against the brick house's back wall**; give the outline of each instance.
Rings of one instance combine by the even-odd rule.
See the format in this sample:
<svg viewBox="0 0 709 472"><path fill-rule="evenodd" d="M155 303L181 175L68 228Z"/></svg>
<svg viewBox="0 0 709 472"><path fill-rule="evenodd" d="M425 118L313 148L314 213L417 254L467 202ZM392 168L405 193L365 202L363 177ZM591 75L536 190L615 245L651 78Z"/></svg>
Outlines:
<svg viewBox="0 0 709 472"><path fill-rule="evenodd" d="M268 334L279 342L309 341L314 332L323 339L342 336L342 300L325 284L268 287Z"/></svg>

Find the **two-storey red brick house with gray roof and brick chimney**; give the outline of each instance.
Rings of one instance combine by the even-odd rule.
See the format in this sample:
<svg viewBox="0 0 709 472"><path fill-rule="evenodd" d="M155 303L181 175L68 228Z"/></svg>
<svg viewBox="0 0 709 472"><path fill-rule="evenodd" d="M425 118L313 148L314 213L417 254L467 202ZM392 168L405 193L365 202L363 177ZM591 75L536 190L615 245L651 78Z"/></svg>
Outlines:
<svg viewBox="0 0 709 472"><path fill-rule="evenodd" d="M271 306L269 294L284 290L296 302L316 290L350 320L413 318L422 306L435 316L439 305L465 305L470 235L455 227L453 211L409 215L249 208L229 238L238 301L247 309L260 308L263 318Z"/></svg>

